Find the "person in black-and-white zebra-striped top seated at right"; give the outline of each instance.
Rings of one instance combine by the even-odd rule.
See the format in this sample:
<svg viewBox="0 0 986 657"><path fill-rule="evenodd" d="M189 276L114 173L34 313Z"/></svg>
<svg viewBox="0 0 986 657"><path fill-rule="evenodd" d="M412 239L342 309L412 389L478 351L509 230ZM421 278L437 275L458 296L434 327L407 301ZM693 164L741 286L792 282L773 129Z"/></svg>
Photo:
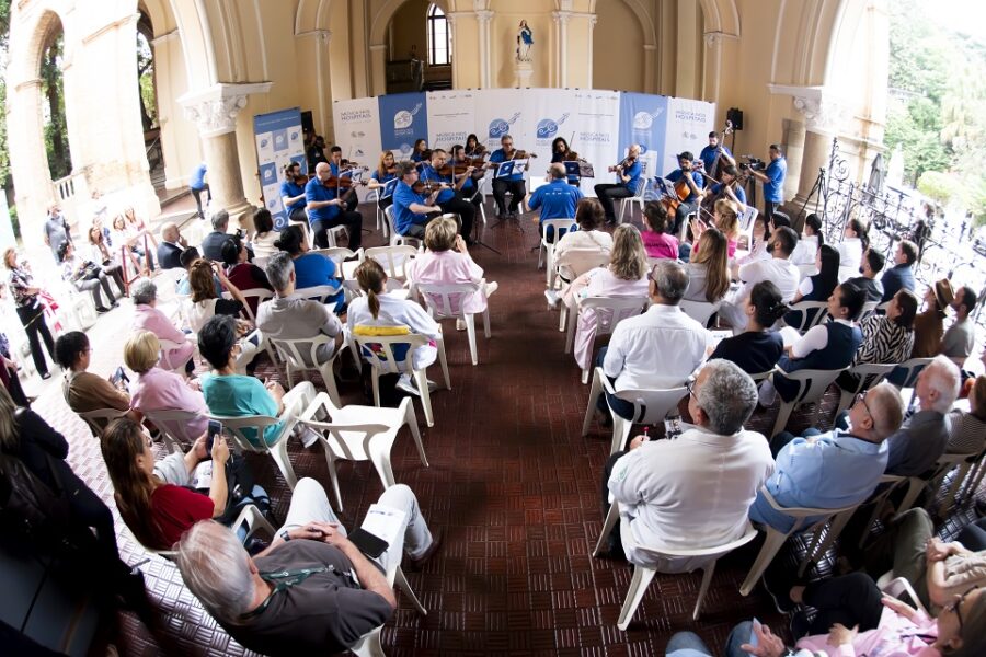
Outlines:
<svg viewBox="0 0 986 657"><path fill-rule="evenodd" d="M852 283L852 281L849 281ZM901 364L910 356L914 347L914 318L917 314L917 297L909 290L899 290L885 314L873 313L859 324L862 343L852 357L852 367L864 364ZM856 390L858 377L842 372L836 383L845 390Z"/></svg>

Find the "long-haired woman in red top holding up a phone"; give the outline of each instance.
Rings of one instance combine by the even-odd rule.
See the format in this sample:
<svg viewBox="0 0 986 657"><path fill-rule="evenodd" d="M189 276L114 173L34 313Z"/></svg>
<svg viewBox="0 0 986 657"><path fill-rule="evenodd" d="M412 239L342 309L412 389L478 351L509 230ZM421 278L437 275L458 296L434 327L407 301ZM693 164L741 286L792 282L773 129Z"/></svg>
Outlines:
<svg viewBox="0 0 986 657"><path fill-rule="evenodd" d="M222 436L216 436L211 452L203 434L187 453L175 451L156 462L150 438L137 423L121 418L103 431L100 449L119 515L146 548L171 550L199 520L227 514L229 446ZM195 469L207 459L213 462L208 495L192 488Z"/></svg>

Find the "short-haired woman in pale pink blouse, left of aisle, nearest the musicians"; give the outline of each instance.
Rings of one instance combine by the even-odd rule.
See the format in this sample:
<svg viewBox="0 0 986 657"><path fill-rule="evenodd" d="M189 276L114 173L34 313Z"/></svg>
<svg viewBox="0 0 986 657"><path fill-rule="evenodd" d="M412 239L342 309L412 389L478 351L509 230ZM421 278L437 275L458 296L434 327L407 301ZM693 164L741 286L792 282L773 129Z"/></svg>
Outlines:
<svg viewBox="0 0 986 657"><path fill-rule="evenodd" d="M567 184L567 183L565 183ZM475 283L483 280L483 268L475 264L469 255L469 249L462 235L456 234L456 220L445 215L431 221L425 228L424 254L412 260L406 266L408 281L454 285L459 283ZM486 310L490 295L496 291L497 284L486 283L473 295L459 299L467 313L481 313ZM458 307L452 308L457 312ZM466 324L458 320L456 328L466 330Z"/></svg>

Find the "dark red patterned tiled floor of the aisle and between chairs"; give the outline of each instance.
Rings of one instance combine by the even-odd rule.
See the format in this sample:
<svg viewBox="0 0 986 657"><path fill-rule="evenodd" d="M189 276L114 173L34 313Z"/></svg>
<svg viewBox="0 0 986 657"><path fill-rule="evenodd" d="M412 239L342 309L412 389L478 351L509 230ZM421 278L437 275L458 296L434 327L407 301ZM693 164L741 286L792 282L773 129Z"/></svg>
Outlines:
<svg viewBox="0 0 986 657"><path fill-rule="evenodd" d="M369 209L364 208L366 217ZM737 592L753 560L749 550L719 564L699 622L691 622L691 609L700 575L658 575L630 631L616 627L631 570L589 556L601 527L599 476L610 438L595 426L588 436L580 435L588 387L580 383L572 357L563 353L557 313L546 308L543 272L535 269L531 251L536 234L530 219L483 231L483 239L503 252L473 249L486 278L500 281L491 300L493 337L479 337L480 364L473 367L465 333L446 323L452 389L433 394L434 428L424 426L417 407L431 468L421 465L406 431L394 446L397 480L417 494L428 522L445 528L446 542L423 573L409 572L428 614L419 615L399 596L400 609L383 632L387 653L652 655L663 654L679 630L697 632L719 653L733 624L752 615L786 632L786 620L761 590L748 598ZM365 243L380 239L368 235ZM121 364L129 313L125 302L91 330L94 371L108 373ZM270 368L261 374L276 377ZM68 411L55 381L36 408L70 438L73 468L113 506L98 445ZM341 394L346 403L370 403L356 382L342 383ZM824 406L830 412L834 403L827 399ZM755 428L768 429L773 414L758 414ZM810 422L810 413L799 414L795 428ZM328 485L321 450L294 445L290 452L299 476ZM283 518L286 486L273 463L252 463ZM340 477L346 504L342 519L352 526L381 486L369 463L343 464ZM118 519L117 528L125 558L147 558ZM122 614L121 654L245 653L184 589L169 562L151 556L141 568L159 622L148 630L136 616Z"/></svg>

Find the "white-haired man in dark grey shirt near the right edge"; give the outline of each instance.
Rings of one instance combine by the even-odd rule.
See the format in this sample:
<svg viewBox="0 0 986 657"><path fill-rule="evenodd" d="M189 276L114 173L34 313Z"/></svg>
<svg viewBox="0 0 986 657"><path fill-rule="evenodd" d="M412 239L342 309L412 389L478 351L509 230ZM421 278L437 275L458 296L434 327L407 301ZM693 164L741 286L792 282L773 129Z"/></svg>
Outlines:
<svg viewBox="0 0 986 657"><path fill-rule="evenodd" d="M945 414L959 396L959 366L937 356L917 377L914 391L919 411L891 436L886 474L920 476L935 468L949 442Z"/></svg>

